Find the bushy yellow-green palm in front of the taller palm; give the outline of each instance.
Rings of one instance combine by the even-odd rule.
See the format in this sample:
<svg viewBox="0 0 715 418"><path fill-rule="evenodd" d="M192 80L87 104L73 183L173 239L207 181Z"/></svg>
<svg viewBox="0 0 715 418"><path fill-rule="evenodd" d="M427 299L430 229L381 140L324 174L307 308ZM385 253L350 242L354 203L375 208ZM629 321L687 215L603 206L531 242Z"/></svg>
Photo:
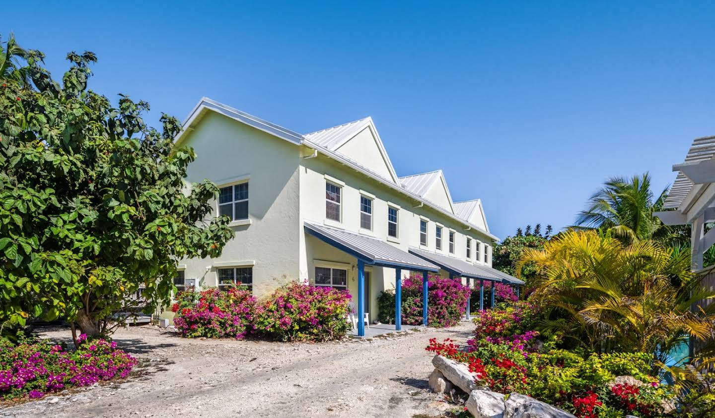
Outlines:
<svg viewBox="0 0 715 418"><path fill-rule="evenodd" d="M526 249L516 272L536 267L532 298L546 309L544 334L561 334L594 352L645 352L665 361L673 347L715 335L715 298L690 272L689 254L651 240L623 244L606 231L563 232L543 250Z"/></svg>

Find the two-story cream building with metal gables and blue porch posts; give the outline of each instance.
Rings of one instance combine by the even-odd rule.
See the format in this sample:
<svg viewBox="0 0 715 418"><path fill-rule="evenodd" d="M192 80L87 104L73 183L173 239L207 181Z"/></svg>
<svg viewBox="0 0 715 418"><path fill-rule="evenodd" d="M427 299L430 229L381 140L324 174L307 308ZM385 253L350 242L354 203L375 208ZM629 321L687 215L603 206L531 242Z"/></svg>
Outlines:
<svg viewBox="0 0 715 418"><path fill-rule="evenodd" d="M297 279L347 289L374 318L380 292L413 271L519 282L491 268L481 201L453 202L441 170L398 177L370 117L298 134L204 98L176 146L196 151L187 181L220 187L215 214L235 230L221 257L179 262L179 287L261 297Z"/></svg>

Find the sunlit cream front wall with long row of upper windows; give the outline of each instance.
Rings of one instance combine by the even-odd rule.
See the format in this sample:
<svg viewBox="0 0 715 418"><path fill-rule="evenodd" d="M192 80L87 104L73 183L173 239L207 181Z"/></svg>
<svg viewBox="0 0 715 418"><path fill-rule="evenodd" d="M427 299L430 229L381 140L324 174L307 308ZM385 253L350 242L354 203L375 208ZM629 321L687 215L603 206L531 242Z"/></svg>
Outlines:
<svg viewBox="0 0 715 418"><path fill-rule="evenodd" d="M305 153L308 154L308 153ZM471 262L484 264L483 257L475 260L475 245L477 242L488 242L489 239L475 229L465 231L464 227L453 219L446 217L427 206L418 206L413 199L390 189L369 177L348 169L332 159L319 154L316 158L302 159L300 161L300 218L310 222L322 223L331 227L339 227L358 232L370 237L383 239L391 244L408 251L410 247L420 247L435 251L435 231L438 224L443 227L443 254L448 254L448 231L455 232L454 257L465 259L466 239L473 239ZM341 222L325 218L325 182L337 184L341 191ZM373 229L360 228L360 196L365 195L373 199ZM398 211L398 239L388 237L388 205L397 206ZM420 246L420 219L428 220L428 244ZM300 278L310 282L315 281L315 265L326 265L330 262L343 263L349 266L348 289L353 299L357 302L357 260L344 252L330 247L319 239L307 234L300 237ZM483 251L483 246L481 247ZM339 266L338 266L339 267ZM371 267L372 279L370 283L370 304L373 317L377 314L376 299L380 291L394 289L395 271L383 267ZM441 272L445 277L447 272ZM403 271L403 277L410 272Z"/></svg>

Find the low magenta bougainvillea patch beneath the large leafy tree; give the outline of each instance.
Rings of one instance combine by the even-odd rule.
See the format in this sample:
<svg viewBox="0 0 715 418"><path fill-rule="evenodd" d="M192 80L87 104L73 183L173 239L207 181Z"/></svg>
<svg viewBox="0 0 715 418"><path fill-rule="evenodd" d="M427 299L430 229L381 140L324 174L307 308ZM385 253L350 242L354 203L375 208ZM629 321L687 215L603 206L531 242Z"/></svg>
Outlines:
<svg viewBox="0 0 715 418"><path fill-rule="evenodd" d="M124 378L137 359L104 339L87 340L66 352L47 341L0 342L0 398L41 398L71 387Z"/></svg>

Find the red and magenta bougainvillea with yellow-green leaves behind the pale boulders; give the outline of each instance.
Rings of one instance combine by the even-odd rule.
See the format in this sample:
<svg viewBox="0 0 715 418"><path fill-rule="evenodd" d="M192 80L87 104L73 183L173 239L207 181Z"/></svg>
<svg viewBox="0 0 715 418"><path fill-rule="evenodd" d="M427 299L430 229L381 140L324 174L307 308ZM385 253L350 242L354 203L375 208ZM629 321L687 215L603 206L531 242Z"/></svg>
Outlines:
<svg viewBox="0 0 715 418"><path fill-rule="evenodd" d="M676 388L651 375L644 353L577 354L536 344L533 304L487 310L474 319L474 338L465 347L431 339L427 350L468 364L475 380L495 392L527 394L576 417L675 417L669 405ZM618 376L633 377L619 383Z"/></svg>

